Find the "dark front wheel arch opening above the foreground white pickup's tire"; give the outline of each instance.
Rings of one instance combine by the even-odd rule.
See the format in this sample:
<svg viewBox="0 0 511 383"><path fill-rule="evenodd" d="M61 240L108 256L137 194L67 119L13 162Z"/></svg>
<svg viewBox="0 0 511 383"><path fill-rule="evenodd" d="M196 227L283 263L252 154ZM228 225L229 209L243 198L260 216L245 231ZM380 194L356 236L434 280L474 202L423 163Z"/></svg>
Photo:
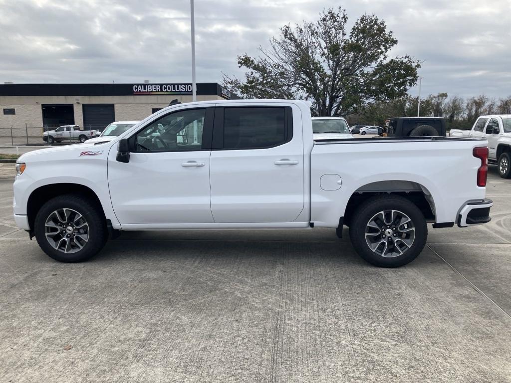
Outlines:
<svg viewBox="0 0 511 383"><path fill-rule="evenodd" d="M52 183L42 185L32 190L27 200L27 218L30 229L34 229L35 217L39 209L52 198L66 194L75 194L88 198L98 207L102 217L106 220L106 214L98 195L90 187L78 183Z"/></svg>

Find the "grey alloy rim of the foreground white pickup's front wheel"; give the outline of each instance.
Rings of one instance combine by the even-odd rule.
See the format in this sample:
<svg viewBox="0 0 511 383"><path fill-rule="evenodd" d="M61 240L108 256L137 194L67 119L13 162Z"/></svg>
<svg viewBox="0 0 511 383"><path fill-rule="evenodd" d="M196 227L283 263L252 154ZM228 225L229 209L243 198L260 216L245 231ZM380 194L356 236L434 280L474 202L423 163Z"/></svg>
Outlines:
<svg viewBox="0 0 511 383"><path fill-rule="evenodd" d="M54 210L44 223L48 243L63 253L76 253L89 240L89 225L82 214L73 209Z"/></svg>

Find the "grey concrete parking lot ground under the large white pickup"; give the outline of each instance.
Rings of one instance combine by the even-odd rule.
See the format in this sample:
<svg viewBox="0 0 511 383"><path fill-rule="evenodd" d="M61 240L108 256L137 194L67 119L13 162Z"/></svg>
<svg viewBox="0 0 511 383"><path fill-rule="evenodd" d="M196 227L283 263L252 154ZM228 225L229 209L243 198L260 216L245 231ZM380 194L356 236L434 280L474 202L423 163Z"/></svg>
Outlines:
<svg viewBox="0 0 511 383"><path fill-rule="evenodd" d="M492 222L430 227L400 269L332 229L132 232L60 264L16 229L6 169L2 382L511 381L511 180L494 166Z"/></svg>

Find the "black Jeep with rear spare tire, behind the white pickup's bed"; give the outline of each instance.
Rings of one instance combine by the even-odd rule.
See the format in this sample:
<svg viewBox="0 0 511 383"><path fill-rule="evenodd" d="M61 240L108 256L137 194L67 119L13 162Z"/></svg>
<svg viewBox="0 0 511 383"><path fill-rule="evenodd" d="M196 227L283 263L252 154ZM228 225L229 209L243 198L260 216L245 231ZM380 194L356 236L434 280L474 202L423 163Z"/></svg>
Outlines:
<svg viewBox="0 0 511 383"><path fill-rule="evenodd" d="M394 117L385 120L383 137L420 137L446 135L444 117Z"/></svg>

